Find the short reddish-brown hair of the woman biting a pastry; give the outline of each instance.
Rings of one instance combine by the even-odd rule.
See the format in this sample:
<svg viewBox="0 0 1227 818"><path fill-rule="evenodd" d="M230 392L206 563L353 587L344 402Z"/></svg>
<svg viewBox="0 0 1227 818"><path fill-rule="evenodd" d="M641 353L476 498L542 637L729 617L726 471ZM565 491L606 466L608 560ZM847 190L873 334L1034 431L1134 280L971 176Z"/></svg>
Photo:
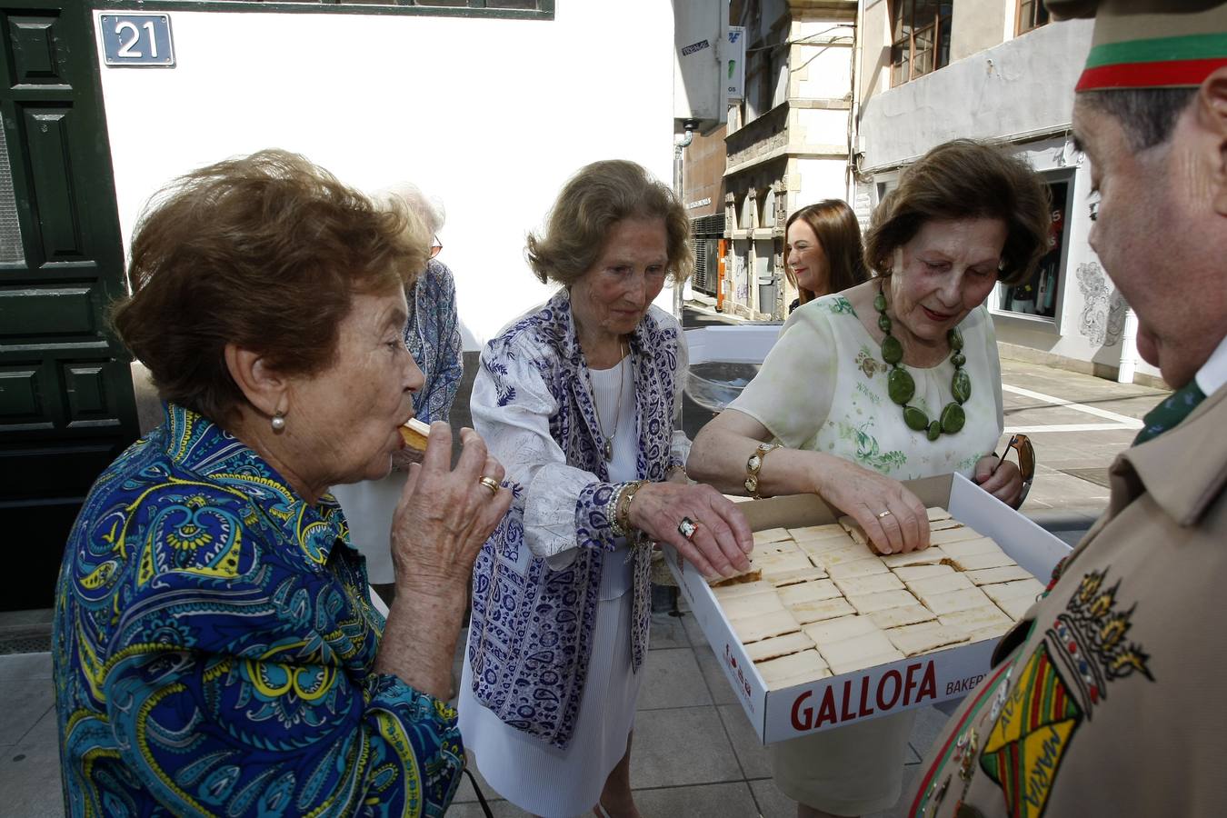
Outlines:
<svg viewBox="0 0 1227 818"><path fill-rule="evenodd" d="M286 151L260 151L167 185L136 226L133 296L112 320L158 396L217 423L245 402L226 367L234 343L287 375L336 354L356 293L407 286L429 237Z"/></svg>

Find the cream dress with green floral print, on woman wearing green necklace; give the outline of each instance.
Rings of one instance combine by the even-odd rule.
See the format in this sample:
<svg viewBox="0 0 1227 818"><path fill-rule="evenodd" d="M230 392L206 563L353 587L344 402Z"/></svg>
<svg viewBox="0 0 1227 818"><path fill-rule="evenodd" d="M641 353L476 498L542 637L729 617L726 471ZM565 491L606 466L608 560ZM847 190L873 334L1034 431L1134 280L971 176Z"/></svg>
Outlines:
<svg viewBox="0 0 1227 818"><path fill-rule="evenodd" d="M881 346L847 298L825 296L794 312L758 375L729 408L762 423L793 449L826 451L896 480L950 472L971 477L1005 428L1001 362L988 310L960 324L972 396L957 434L929 440L903 422L886 389ZM904 365L915 380L912 400L936 418L952 397L955 365ZM890 809L902 790L903 762L915 713L772 744L775 784L794 801L842 816Z"/></svg>

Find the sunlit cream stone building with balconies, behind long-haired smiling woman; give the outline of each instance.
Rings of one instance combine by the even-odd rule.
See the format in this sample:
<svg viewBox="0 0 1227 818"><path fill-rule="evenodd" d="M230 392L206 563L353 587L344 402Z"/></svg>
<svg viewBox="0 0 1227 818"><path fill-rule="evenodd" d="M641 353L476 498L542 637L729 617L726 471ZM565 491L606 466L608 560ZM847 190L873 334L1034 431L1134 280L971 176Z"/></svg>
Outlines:
<svg viewBox="0 0 1227 818"><path fill-rule="evenodd" d="M721 308L782 319L796 297L784 275L789 213L850 188L855 0L745 0L745 97L725 136Z"/></svg>

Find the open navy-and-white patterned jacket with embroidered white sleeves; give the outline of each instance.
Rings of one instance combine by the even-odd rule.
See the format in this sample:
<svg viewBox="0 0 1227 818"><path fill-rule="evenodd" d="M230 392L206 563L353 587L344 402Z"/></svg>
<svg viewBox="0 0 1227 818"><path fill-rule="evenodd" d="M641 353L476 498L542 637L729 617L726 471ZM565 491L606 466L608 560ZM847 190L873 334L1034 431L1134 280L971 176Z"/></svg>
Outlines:
<svg viewBox="0 0 1227 818"><path fill-rule="evenodd" d="M683 466L677 428L687 372L677 320L652 307L631 336L638 476ZM507 468L512 509L474 565L469 661L474 695L506 724L566 748L574 731L601 585L601 552L617 547L606 505L605 444L571 296L491 341L472 392L474 428ZM632 670L648 645L650 553L634 553Z"/></svg>

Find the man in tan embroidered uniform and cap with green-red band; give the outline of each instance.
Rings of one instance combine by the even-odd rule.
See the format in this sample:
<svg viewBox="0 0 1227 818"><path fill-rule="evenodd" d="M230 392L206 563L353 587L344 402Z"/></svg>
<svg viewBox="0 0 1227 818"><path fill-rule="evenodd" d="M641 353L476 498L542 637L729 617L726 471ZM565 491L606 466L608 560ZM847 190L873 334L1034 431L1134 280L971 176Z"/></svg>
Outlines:
<svg viewBox="0 0 1227 818"><path fill-rule="evenodd" d="M1002 639L908 816L1227 816L1227 4L1048 0L1096 18L1074 132L1091 245L1175 394L1108 511Z"/></svg>

